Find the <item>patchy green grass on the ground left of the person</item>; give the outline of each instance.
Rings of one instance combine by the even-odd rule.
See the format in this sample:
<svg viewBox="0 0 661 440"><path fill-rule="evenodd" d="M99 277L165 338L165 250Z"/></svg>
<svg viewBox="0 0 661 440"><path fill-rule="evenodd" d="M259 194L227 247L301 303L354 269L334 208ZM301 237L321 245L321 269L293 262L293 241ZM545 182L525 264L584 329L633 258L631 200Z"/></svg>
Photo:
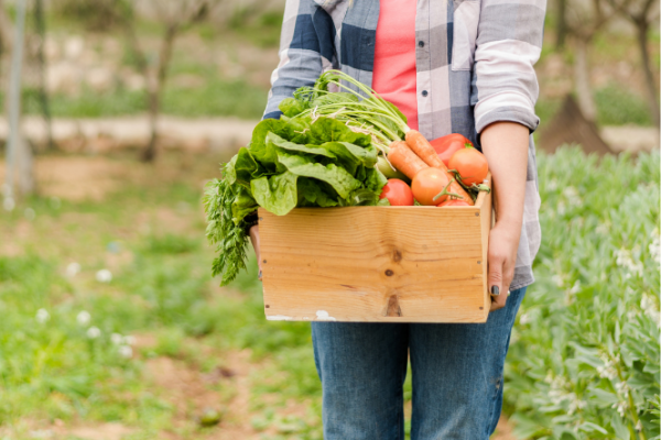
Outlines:
<svg viewBox="0 0 661 440"><path fill-rule="evenodd" d="M170 161L167 154L162 160ZM24 254L0 255L0 437L31 438L30 420L61 419L67 426L121 422L134 429L132 439L161 438L163 431L199 438L197 413L182 420L170 389L145 381L145 363L170 358L209 374L225 364L224 353L249 349L267 369L250 378L250 410L266 420L257 424L260 430L321 439L310 324L263 318L254 261L230 289L215 286L205 224L194 208L199 182L209 177L199 169L192 166L176 178L154 175L142 186L127 179L100 202L33 198L0 220L1 231L30 230L22 241L4 235ZM32 221L23 216L28 207L36 212ZM187 227L172 230L158 218L163 210ZM73 261L80 272L67 275ZM111 279L97 280L97 271L107 267ZM131 345L141 334L151 334L153 345ZM226 381L216 403L221 413L234 386ZM270 404L260 406L266 394ZM286 399L312 404L280 416ZM239 426L250 425L252 416L245 417Z"/></svg>

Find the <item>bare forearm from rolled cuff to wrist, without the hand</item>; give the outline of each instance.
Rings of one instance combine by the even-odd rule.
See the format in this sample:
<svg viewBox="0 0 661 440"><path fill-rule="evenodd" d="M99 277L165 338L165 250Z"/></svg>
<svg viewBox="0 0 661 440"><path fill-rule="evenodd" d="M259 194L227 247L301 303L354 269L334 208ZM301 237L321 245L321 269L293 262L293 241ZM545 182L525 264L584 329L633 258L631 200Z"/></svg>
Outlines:
<svg viewBox="0 0 661 440"><path fill-rule="evenodd" d="M530 132L516 122L495 122L481 133L494 187L496 221L516 231L523 222Z"/></svg>

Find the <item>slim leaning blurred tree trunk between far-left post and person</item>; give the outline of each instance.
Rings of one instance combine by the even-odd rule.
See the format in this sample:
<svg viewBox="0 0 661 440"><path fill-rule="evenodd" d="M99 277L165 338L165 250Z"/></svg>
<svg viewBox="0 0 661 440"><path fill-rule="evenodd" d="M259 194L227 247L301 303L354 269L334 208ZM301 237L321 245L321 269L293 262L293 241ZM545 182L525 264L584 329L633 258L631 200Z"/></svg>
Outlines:
<svg viewBox="0 0 661 440"><path fill-rule="evenodd" d="M142 160L144 162L152 162L156 157L156 141L159 138L158 123L159 112L161 110L161 96L163 88L165 87L165 79L167 77L167 67L170 66L170 59L172 58L172 47L174 45L174 38L178 31L176 24L170 24L165 29L165 35L163 35L163 42L161 44L161 51L159 53L159 68L156 77L153 84L149 85L149 125L151 136L149 145L142 152Z"/></svg>

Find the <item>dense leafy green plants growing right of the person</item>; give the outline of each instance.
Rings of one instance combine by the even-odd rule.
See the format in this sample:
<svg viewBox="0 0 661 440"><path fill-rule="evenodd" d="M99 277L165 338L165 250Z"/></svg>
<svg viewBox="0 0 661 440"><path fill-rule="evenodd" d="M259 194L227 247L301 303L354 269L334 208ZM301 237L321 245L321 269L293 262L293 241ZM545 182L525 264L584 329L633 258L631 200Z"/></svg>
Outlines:
<svg viewBox="0 0 661 440"><path fill-rule="evenodd" d="M544 239L505 394L522 438L659 438L658 164L540 157Z"/></svg>

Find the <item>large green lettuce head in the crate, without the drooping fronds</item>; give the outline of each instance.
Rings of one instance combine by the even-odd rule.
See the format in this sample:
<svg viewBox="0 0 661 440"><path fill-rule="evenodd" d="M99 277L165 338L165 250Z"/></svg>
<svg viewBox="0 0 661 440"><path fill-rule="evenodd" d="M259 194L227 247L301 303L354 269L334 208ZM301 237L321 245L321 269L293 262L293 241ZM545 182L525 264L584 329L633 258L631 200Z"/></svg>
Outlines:
<svg viewBox="0 0 661 440"><path fill-rule="evenodd" d="M283 216L296 206L377 205L387 182L377 153L369 136L330 118L261 121L225 166L232 218L238 224L258 206Z"/></svg>

